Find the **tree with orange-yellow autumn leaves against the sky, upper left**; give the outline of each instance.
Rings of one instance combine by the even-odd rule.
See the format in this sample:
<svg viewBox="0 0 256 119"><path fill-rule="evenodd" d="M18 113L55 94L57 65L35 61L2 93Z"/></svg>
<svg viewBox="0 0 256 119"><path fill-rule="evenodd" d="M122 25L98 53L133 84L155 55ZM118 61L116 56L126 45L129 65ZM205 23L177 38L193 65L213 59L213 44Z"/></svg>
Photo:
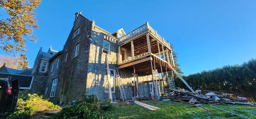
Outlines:
<svg viewBox="0 0 256 119"><path fill-rule="evenodd" d="M0 48L19 61L18 67L27 67L26 39L36 42L33 29L38 28L35 8L41 0L0 0L0 8L7 19L0 19ZM3 12L4 13L4 12Z"/></svg>

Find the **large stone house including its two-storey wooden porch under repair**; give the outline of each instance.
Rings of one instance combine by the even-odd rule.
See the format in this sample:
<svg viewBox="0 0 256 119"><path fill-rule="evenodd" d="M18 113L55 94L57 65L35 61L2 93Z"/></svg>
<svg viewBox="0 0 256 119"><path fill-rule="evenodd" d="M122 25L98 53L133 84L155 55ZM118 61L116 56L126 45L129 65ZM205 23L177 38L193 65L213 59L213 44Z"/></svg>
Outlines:
<svg viewBox="0 0 256 119"><path fill-rule="evenodd" d="M170 44L157 31L146 22L129 33L123 29L109 33L81 12L75 13L62 51L39 49L31 72L31 92L56 104L90 94L108 99L106 57L113 100L121 98L119 86L123 86L126 98L164 94L165 83L169 83L164 74L171 71L174 62ZM115 68L119 68L120 78Z"/></svg>

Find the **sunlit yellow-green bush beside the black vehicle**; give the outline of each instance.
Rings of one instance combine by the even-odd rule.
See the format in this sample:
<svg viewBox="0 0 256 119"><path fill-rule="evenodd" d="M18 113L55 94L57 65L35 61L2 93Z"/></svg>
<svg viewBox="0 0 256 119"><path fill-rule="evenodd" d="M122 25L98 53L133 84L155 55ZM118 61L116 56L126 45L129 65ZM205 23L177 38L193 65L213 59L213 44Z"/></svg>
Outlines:
<svg viewBox="0 0 256 119"><path fill-rule="evenodd" d="M7 116L7 119L29 119L31 115L37 111L60 108L52 102L42 99L42 96L29 94L28 92L29 91L27 90L20 92L16 111L10 113L10 115Z"/></svg>

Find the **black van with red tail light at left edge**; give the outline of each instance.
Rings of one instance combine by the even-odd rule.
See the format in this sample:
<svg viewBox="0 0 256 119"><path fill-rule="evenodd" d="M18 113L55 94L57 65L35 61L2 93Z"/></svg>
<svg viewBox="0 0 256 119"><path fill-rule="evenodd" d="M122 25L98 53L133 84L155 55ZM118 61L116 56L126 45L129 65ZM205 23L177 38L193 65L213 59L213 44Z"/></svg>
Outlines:
<svg viewBox="0 0 256 119"><path fill-rule="evenodd" d="M10 84L11 83L11 84ZM4 112L14 112L19 96L18 79L0 78L0 118Z"/></svg>

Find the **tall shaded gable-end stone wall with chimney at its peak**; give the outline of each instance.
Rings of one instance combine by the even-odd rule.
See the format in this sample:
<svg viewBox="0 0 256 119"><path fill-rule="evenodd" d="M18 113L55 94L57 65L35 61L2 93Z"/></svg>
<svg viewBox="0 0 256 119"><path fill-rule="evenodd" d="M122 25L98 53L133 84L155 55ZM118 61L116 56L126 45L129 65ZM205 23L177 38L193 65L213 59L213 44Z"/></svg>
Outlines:
<svg viewBox="0 0 256 119"><path fill-rule="evenodd" d="M79 28L79 34L74 37L74 32ZM61 55L59 100L67 103L72 100L82 99L86 92L86 79L90 52L90 39L92 21L78 15L74 26L68 36ZM79 55L75 56L76 45L79 44ZM66 53L67 60L66 59ZM56 95L57 96L57 95Z"/></svg>

